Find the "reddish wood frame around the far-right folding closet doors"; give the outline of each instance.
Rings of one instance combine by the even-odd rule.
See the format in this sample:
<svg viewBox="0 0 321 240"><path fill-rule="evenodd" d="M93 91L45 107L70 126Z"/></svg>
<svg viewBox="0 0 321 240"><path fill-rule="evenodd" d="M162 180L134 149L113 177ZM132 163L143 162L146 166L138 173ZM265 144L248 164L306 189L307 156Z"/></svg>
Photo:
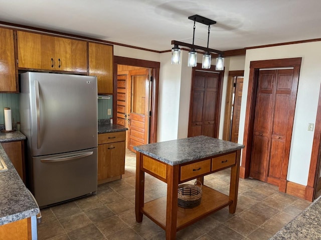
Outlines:
<svg viewBox="0 0 321 240"><path fill-rule="evenodd" d="M250 174L256 92L257 92L257 79L258 79L259 69L293 67L292 79L294 84L296 84L295 89L297 91L301 60L302 60L302 57L294 57L294 58L258 60L258 61L250 62L245 124L244 124L244 136L243 136L243 144L245 145L245 147L243 148L243 151L242 151L240 177L247 178L249 177L249 174ZM292 100L296 101L296 94L295 94L295 99L291 99L291 101ZM295 107L293 109L290 109L290 112L289 112L289 115L291 115L289 121L292 122L292 127L293 127L293 120L294 120L294 110L295 110ZM285 144L291 144L292 127L286 130L286 138L289 139L289 141L286 142ZM288 151L285 152L285 157L284 157L285 161L282 164L281 176L279 181L279 191L281 192L285 192L286 190L286 176L287 176L290 146L288 145L287 148L288 148Z"/></svg>

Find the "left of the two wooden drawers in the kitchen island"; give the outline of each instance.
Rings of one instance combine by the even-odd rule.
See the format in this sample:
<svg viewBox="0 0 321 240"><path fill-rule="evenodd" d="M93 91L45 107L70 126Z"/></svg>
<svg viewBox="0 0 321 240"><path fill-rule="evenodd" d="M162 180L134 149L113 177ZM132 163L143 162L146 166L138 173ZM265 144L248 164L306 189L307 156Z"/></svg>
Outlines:
<svg viewBox="0 0 321 240"><path fill-rule="evenodd" d="M196 177L211 171L211 159L198 161L181 166L181 181Z"/></svg>

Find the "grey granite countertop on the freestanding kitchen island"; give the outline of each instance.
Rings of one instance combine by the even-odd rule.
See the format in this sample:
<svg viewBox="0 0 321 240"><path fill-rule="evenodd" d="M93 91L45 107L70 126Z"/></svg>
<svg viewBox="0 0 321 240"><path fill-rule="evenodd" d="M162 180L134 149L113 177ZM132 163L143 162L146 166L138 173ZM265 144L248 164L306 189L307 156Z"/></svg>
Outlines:
<svg viewBox="0 0 321 240"><path fill-rule="evenodd" d="M238 150L243 147L244 145L242 144L209 136L193 136L178 140L134 146L134 149L167 164L177 165Z"/></svg>

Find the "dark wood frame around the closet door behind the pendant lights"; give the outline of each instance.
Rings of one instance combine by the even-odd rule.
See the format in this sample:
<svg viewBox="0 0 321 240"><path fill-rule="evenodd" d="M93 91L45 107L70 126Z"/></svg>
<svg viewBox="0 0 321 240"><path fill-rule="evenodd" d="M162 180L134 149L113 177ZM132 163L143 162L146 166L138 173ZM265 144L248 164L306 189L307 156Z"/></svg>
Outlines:
<svg viewBox="0 0 321 240"><path fill-rule="evenodd" d="M219 71L215 69L216 66L215 65L211 65L211 67L209 69L204 70L202 68L202 63L197 63L196 67L192 68L192 82L191 82L191 95L190 95L190 108L189 108L189 123L188 123L188 132L189 132L189 128L192 125L192 107L193 107L193 89L194 89L194 83L195 83L195 73L196 71L204 71L204 72L218 72L219 73L219 82L218 82L218 99L216 102L216 111L217 111L217 115L216 115L216 126L215 126L215 136L216 138L219 137L219 128L220 128L220 117L221 117L221 105L222 105L222 93L223 93L223 81L224 81L224 71L225 71L225 67L224 70Z"/></svg>

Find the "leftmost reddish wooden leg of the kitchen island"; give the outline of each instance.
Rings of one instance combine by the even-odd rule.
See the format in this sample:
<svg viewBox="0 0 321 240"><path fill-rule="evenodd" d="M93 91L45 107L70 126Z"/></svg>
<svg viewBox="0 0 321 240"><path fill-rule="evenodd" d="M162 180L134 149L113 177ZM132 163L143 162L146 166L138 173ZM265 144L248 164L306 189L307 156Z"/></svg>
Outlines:
<svg viewBox="0 0 321 240"><path fill-rule="evenodd" d="M142 221L141 208L144 205L144 184L145 184L145 174L141 170L142 165L142 153L136 151L136 189L135 189L135 214L136 221Z"/></svg>

